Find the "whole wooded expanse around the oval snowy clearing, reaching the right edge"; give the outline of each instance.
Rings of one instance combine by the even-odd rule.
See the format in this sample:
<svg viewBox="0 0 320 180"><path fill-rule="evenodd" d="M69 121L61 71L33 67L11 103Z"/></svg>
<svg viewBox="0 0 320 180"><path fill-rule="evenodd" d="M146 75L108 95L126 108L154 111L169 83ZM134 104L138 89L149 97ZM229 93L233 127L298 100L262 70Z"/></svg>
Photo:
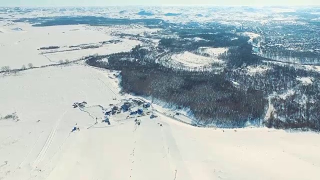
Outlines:
<svg viewBox="0 0 320 180"><path fill-rule="evenodd" d="M252 46L244 36L208 35L202 31L194 35L176 34L178 37L162 38L155 48L136 46L130 52L89 56L86 62L120 70L124 92L188 107L197 125L243 127L250 122L274 128L320 130L319 72L298 64L274 63L272 59L252 54ZM193 37L203 40L194 41ZM195 52L202 46L228 47L219 55L225 64L221 72L174 68L161 61L170 54ZM263 73L250 74L249 66L266 69ZM303 84L298 77L309 77L312 83ZM288 91L294 93L284 95ZM274 110L264 120L268 100Z"/></svg>

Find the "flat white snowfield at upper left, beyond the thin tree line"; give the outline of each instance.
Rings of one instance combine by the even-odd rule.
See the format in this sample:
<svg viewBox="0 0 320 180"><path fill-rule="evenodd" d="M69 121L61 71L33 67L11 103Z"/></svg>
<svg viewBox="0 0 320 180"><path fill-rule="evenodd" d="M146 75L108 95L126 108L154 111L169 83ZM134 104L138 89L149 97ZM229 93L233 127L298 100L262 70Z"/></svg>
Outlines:
<svg viewBox="0 0 320 180"><path fill-rule="evenodd" d="M112 28L108 27L108 29ZM99 48L48 53L45 54L46 58L39 54L41 52L37 50L39 47L96 43L114 39L114 37L107 32L85 25L33 27L27 23L1 21L0 31L2 31L0 33L0 67L9 66L11 69L21 68L23 64L26 66L28 63L41 66L53 64L59 60L75 60L94 53L128 51L132 46L140 43L137 40L121 39L120 43L106 44Z"/></svg>

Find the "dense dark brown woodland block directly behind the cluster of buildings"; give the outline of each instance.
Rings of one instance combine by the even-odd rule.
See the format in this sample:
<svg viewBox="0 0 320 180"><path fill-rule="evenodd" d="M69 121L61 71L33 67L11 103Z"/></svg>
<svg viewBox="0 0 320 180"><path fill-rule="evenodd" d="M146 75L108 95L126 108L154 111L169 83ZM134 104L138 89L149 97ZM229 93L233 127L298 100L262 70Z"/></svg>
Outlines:
<svg viewBox="0 0 320 180"><path fill-rule="evenodd" d="M100 60L104 58L107 62ZM248 121L262 122L267 107L263 91L235 87L223 74L168 68L156 63L155 58L153 51L136 46L131 52L90 56L86 62L121 70L124 92L190 108L196 124L242 127Z"/></svg>

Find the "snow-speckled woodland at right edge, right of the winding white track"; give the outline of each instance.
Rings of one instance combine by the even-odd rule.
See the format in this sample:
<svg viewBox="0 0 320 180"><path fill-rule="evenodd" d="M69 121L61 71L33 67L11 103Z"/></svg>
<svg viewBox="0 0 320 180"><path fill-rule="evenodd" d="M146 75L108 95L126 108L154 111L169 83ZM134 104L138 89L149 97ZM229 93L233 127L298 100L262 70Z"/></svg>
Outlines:
<svg viewBox="0 0 320 180"><path fill-rule="evenodd" d="M300 85L285 99L273 97L271 102L276 109L266 122L268 127L299 128L319 130L320 90L319 82Z"/></svg>

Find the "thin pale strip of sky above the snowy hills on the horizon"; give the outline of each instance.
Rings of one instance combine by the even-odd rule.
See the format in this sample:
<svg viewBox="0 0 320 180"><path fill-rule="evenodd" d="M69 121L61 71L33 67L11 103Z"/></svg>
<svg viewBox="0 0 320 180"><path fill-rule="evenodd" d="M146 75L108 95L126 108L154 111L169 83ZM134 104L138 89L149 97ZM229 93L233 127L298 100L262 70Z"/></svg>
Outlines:
<svg viewBox="0 0 320 180"><path fill-rule="evenodd" d="M0 6L320 5L320 0L0 0Z"/></svg>

